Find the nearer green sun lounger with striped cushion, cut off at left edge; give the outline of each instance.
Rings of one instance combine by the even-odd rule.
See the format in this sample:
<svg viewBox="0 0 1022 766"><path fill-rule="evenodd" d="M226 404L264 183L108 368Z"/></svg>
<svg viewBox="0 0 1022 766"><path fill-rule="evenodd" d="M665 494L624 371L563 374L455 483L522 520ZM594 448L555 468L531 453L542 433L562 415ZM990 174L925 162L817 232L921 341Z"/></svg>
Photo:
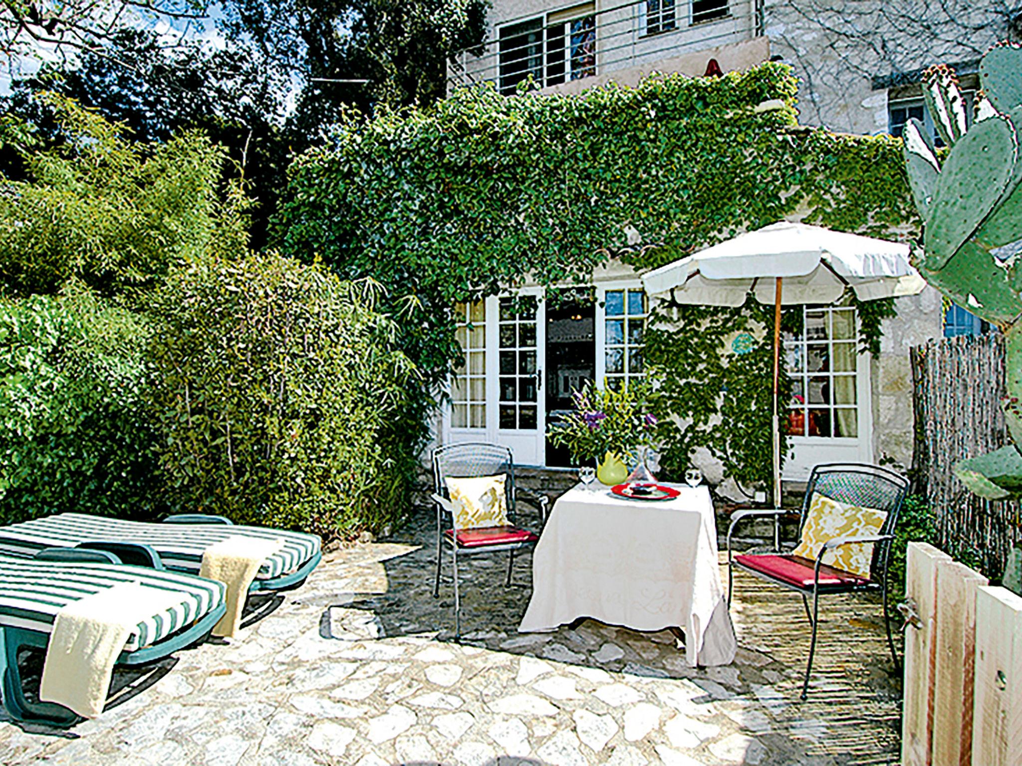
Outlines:
<svg viewBox="0 0 1022 766"><path fill-rule="evenodd" d="M119 665L145 665L203 640L224 614L222 583L194 575L117 564L100 550L55 548L43 559L0 554L0 675L3 706L15 720L71 726L80 719L54 703L30 702L18 653L45 649L57 613L69 604L124 583L175 591L173 606L143 619L131 631Z"/></svg>

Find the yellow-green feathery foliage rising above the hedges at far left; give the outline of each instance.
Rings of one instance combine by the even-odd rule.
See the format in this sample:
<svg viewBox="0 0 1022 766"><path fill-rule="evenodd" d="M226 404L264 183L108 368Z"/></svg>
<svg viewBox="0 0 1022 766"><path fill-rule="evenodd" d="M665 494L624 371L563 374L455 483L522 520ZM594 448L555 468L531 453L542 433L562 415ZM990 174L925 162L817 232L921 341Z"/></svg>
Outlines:
<svg viewBox="0 0 1022 766"><path fill-rule="evenodd" d="M73 283L100 294L151 288L176 260L245 246L244 200L218 194L224 151L194 132L166 144L124 130L57 95L57 148L26 152L28 180L3 181L0 280L9 295Z"/></svg>

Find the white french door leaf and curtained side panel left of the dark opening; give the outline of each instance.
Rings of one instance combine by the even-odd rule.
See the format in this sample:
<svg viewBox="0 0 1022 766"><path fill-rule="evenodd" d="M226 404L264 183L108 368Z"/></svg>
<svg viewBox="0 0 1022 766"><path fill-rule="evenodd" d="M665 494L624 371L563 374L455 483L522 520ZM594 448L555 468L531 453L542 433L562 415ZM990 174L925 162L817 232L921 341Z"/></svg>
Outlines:
<svg viewBox="0 0 1022 766"><path fill-rule="evenodd" d="M463 361L444 408L443 441L511 447L515 463L546 460L546 305L542 289L455 308Z"/></svg>

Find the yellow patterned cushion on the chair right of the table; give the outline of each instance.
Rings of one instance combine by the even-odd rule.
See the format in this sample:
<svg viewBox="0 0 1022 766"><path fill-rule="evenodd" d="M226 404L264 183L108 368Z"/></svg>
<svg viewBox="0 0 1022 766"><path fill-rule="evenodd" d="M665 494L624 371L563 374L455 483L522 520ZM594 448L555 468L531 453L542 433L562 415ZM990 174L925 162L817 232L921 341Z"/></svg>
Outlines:
<svg viewBox="0 0 1022 766"><path fill-rule="evenodd" d="M847 506L814 492L802 527L802 539L792 554L816 561L827 540L879 534L886 518L886 513L875 508ZM860 577L870 576L872 560L872 542L853 542L824 554L824 564Z"/></svg>

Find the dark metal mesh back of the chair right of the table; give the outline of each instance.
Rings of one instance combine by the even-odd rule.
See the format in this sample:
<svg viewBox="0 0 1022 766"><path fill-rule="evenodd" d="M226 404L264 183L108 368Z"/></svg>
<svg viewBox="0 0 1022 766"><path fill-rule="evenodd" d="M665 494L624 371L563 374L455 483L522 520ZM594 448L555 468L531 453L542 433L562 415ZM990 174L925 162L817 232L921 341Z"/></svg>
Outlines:
<svg viewBox="0 0 1022 766"><path fill-rule="evenodd" d="M878 534L893 535L901 505L909 493L909 480L882 466L857 463L830 463L817 466L809 475L805 495L802 497L801 519L798 524L799 537L816 492L848 506L884 512L887 518L884 519ZM891 540L883 540L873 545L870 579L882 585L886 585Z"/></svg>

